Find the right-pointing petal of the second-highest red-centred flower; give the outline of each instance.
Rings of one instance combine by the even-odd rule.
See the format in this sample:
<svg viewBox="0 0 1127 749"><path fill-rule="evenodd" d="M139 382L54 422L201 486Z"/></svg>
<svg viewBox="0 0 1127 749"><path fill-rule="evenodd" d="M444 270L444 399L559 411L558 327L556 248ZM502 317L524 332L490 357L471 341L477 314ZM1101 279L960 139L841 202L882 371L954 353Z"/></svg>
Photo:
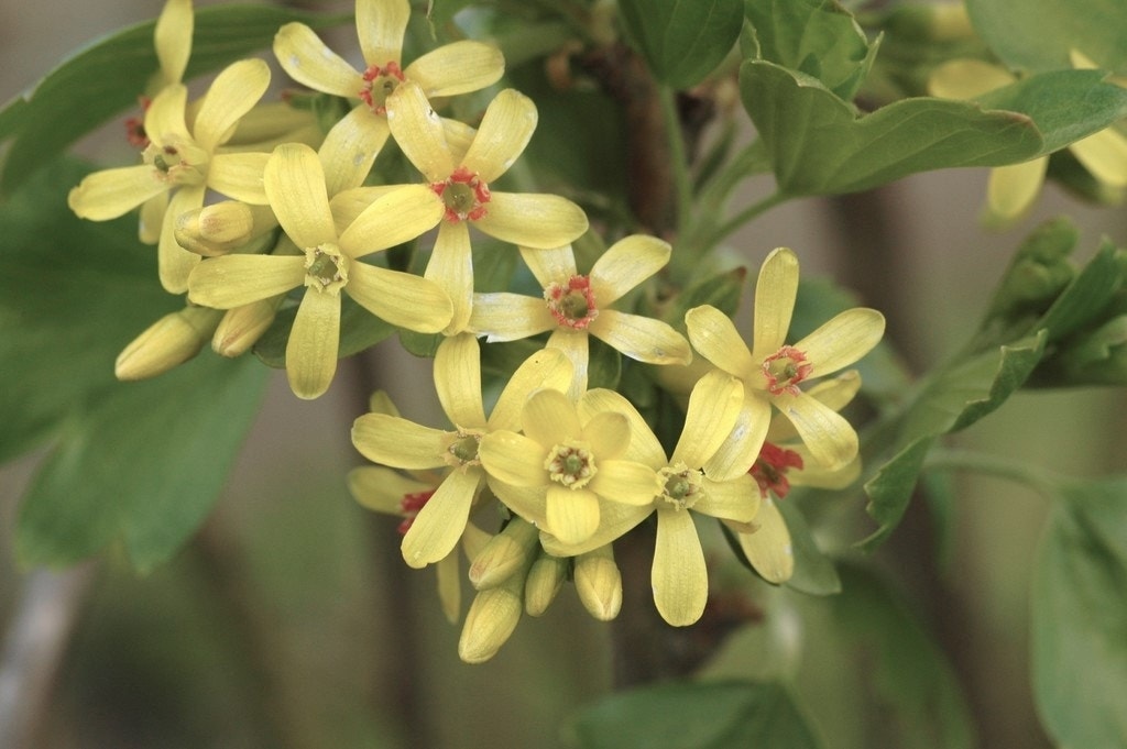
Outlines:
<svg viewBox="0 0 1127 749"><path fill-rule="evenodd" d="M488 212L473 225L503 242L548 249L587 231L587 214L558 195L494 193Z"/></svg>

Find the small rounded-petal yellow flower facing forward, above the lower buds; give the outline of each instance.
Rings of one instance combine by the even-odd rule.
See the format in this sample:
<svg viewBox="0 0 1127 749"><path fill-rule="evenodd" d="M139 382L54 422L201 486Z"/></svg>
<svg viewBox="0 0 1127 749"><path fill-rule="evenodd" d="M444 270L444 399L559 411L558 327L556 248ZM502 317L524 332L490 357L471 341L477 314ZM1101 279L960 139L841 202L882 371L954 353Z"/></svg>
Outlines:
<svg viewBox="0 0 1127 749"><path fill-rule="evenodd" d="M481 439L479 455L494 493L564 545L595 534L601 506L648 507L662 492L654 469L624 460L629 419L585 408L605 392L588 391L576 404L559 391L541 390L521 413L523 435L503 429Z"/></svg>

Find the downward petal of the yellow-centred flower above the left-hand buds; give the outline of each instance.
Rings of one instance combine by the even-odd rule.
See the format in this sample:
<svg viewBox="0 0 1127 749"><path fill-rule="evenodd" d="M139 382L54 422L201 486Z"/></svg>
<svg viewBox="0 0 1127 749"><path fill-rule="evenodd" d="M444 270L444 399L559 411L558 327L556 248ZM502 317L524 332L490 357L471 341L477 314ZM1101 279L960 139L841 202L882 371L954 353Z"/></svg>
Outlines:
<svg viewBox="0 0 1127 749"><path fill-rule="evenodd" d="M332 383L340 341L340 297L305 289L285 347L285 373L293 394L319 398Z"/></svg>

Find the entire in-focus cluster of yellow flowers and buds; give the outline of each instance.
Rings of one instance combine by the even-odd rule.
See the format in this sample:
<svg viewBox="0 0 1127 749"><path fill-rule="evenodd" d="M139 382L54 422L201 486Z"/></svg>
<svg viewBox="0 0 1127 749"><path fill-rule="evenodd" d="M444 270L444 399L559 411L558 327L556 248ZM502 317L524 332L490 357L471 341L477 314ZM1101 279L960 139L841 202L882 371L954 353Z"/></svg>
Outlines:
<svg viewBox="0 0 1127 749"><path fill-rule="evenodd" d="M230 65L189 102L180 78L192 5L168 1L156 35L161 73L134 133L143 163L90 175L70 196L91 220L141 206L161 283L187 292L184 311L123 351L118 376L152 376L207 338L220 354L241 354L299 287L286 372L300 398L319 396L332 380L341 292L392 326L441 332L434 383L452 426L414 423L378 394L353 428L356 448L378 465L356 469L349 487L363 505L403 517L403 559L437 567L452 621L460 547L469 556L478 592L460 643L467 661L490 658L522 613L543 613L569 577L594 616L613 618L622 591L612 544L655 514L654 600L671 624L698 621L708 599L693 512L725 523L765 579L787 580L793 556L774 501L790 483L855 480L858 437L838 411L860 381L845 368L876 346L884 318L849 310L787 344L799 273L787 249L761 269L751 347L711 306L687 313L687 336L614 309L665 267L671 246L627 237L580 274L570 243L588 221L578 205L490 189L532 136L535 106L505 89L477 130L440 117L437 98L492 86L504 61L465 41L402 65L409 12L408 0L357 0L363 71L303 25L278 32L274 52L293 79L356 102L322 137L302 113L256 107L269 82L263 61ZM365 185L389 137L420 181ZM205 205L208 190L227 199ZM515 244L543 296L474 293L470 224ZM421 276L366 261L435 228ZM548 331L490 409L479 338ZM675 393L685 407L672 454L623 395L588 389L588 335L690 383ZM498 517L496 535L476 521Z"/></svg>

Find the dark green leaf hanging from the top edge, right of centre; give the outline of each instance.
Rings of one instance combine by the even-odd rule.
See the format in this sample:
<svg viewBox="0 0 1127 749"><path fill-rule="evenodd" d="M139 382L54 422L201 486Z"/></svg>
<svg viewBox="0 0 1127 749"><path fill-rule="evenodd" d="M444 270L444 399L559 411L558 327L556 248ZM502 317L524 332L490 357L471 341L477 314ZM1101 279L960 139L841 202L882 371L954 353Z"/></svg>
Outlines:
<svg viewBox="0 0 1127 749"><path fill-rule="evenodd" d="M619 12L654 75L675 89L716 70L744 25L743 0L619 0Z"/></svg>

